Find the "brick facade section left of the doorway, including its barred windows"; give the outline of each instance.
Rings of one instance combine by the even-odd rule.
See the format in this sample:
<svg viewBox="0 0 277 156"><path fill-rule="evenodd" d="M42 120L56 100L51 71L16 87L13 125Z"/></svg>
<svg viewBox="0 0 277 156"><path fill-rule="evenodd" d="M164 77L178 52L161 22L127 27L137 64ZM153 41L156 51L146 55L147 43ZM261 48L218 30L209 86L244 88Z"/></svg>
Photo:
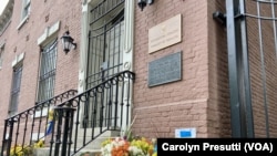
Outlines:
<svg viewBox="0 0 277 156"><path fill-rule="evenodd" d="M74 6L71 4L73 2ZM11 15L7 17L6 13ZM0 31L2 48L0 67L2 108L0 113L2 114L1 133L3 133L4 118L33 107L35 103L44 101L49 95L59 95L78 87L79 50L72 50L71 53L65 54L60 38L69 30L71 37L80 45L81 1L10 0L1 14L1 20L3 23ZM53 42L57 42L55 49L51 50L48 46ZM44 71L52 76L54 84L45 82L43 84L43 72L40 72L42 71L41 64L43 64L41 60L51 58L42 59L45 50L57 55L52 55L52 62L45 61L51 64L52 69L44 67ZM53 70L52 73L50 70ZM44 77L47 76L45 74ZM51 84L53 90L44 94L44 97L39 97L39 90L47 92L47 87L42 87L47 84ZM20 131L20 135L22 134L23 128ZM8 133L4 136L7 138ZM27 137L29 139L30 134L27 134ZM1 146L4 145L1 143Z"/></svg>

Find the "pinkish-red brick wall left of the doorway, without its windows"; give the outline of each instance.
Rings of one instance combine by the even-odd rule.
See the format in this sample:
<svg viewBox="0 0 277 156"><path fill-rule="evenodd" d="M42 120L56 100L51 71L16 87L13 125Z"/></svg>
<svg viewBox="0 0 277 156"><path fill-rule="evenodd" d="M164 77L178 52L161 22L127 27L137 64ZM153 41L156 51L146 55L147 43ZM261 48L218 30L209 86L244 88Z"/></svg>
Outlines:
<svg viewBox="0 0 277 156"><path fill-rule="evenodd" d="M71 37L80 45L81 35L81 0L44 0L31 1L31 13L27 23L17 29L20 23L21 1L14 0L13 17L9 29L1 35L6 39L4 64L0 70L0 104L2 114L0 129L3 119L8 116L12 61L16 55L25 53L23 60L23 73L19 96L19 111L34 105L37 98L40 46L37 40L48 27L61 21L58 31L58 64L54 94L58 95L71 89L78 89L80 46L64 54L60 38L69 29ZM0 132L2 134L2 131ZM2 137L2 136L0 136ZM2 141L2 139L1 139Z"/></svg>

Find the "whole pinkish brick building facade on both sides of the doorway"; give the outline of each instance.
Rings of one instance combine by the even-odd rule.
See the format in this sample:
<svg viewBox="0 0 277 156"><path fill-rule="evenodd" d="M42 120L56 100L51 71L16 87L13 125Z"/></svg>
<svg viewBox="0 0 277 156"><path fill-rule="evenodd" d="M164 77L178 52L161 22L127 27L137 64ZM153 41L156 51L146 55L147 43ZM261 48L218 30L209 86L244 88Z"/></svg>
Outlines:
<svg viewBox="0 0 277 156"><path fill-rule="evenodd" d="M0 30L0 113L2 114L0 134L3 132L4 118L34 106L38 101L44 101L47 97L69 90L78 90L80 94L85 92L89 89L89 76L101 73L103 69L113 69L115 65L111 65L113 60L111 58L119 56L119 61L113 61L113 64L117 63L120 67L113 72L130 70L135 73L135 81L131 86L131 121L134 121L132 129L135 134L148 137L174 137L175 129L195 128L196 137L230 137L227 28L213 19L216 10L226 12L225 1L155 0L153 4L146 6L143 10L137 7L136 1L103 2L106 8L115 8L110 12L104 9L101 12L103 6L99 3L101 1L98 0L31 2L10 0L0 19L2 23L8 23L6 27L2 24L2 30ZM248 6L252 3L249 2ZM121 19L121 10L124 10L123 19ZM27 11L25 14L24 11ZM7 21L4 17L7 18L6 14L9 13L12 15ZM177 14L181 14L181 42L150 53L148 31ZM109 22L112 27L106 24ZM249 22L252 21L249 20ZM102 37L98 39L94 34L102 35L102 33L93 31L102 24L105 24L104 28L111 27L111 29L105 30L103 39ZM257 35L254 31L256 27L248 24L249 37ZM265 23L266 29L271 30L273 28L269 23L268 25ZM76 43L76 49L71 50L68 54L63 52L60 40L65 31L70 31L70 35ZM117 32L124 34L121 35ZM270 31L266 31L266 33L271 35ZM93 42L94 39L95 42ZM102 43L102 40L105 42ZM258 52L258 46L255 44L258 41L253 38L248 42L249 51ZM109 51L107 59L99 53L102 45L104 45L103 51ZM55 46L55 49L53 50L51 46ZM267 48L269 50L265 51L270 51L273 46L270 44ZM41 77L43 77L41 60L43 60L42 53L48 49L57 52L55 60L53 60L57 63L50 62L55 64L52 69L54 72L45 75L54 75L54 77L51 83L45 84L49 87L41 89ZM92 52L92 55L101 60L101 62L96 61L98 64L90 60L90 51L93 50L95 53ZM114 53L110 54L110 52ZM176 52L182 52L179 58L182 79L172 83L148 86L150 63ZM260 69L257 64L260 60L257 58L258 53L249 55L254 95L252 98L254 129L257 132L256 136L265 136L266 129L263 128L265 127L263 119L270 116L268 131L271 136L276 136L276 125L274 124L276 117L273 116L276 110L274 106L276 86L269 87L275 84L276 79L269 77L266 84L269 87L267 94L270 100L268 112L265 113L261 111L264 104L261 101L265 97L259 96L263 94L263 90L260 90L263 79L257 79L263 71L255 70ZM275 53L265 56L274 71L270 69L266 71L269 76L276 75L276 70L274 70L276 67L273 66L274 59L270 60L274 55ZM96 67L93 70L90 64ZM18 92L14 93L14 96L18 95L17 105L12 107L12 80L19 67L21 67L21 73L19 72L21 83L19 83ZM52 89L51 93L40 97L40 90L47 92L47 89ZM13 114L9 114L11 112Z"/></svg>

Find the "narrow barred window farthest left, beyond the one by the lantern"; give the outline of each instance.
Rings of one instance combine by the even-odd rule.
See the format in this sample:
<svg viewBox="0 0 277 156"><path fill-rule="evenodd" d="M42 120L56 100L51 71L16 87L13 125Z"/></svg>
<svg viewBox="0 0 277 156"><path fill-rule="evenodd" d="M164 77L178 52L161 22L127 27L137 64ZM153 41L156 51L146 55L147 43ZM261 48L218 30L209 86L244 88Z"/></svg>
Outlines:
<svg viewBox="0 0 277 156"><path fill-rule="evenodd" d="M22 76L22 65L13 69L9 116L12 116L18 112L21 76Z"/></svg>

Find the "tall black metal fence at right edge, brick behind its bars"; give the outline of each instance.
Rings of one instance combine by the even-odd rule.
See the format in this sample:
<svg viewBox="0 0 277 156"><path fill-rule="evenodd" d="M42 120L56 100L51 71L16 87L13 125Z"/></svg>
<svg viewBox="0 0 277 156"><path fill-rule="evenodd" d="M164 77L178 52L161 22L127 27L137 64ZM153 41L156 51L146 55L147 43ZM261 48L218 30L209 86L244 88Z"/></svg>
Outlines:
<svg viewBox="0 0 277 156"><path fill-rule="evenodd" d="M226 0L233 137L271 137L276 126L276 0Z"/></svg>

